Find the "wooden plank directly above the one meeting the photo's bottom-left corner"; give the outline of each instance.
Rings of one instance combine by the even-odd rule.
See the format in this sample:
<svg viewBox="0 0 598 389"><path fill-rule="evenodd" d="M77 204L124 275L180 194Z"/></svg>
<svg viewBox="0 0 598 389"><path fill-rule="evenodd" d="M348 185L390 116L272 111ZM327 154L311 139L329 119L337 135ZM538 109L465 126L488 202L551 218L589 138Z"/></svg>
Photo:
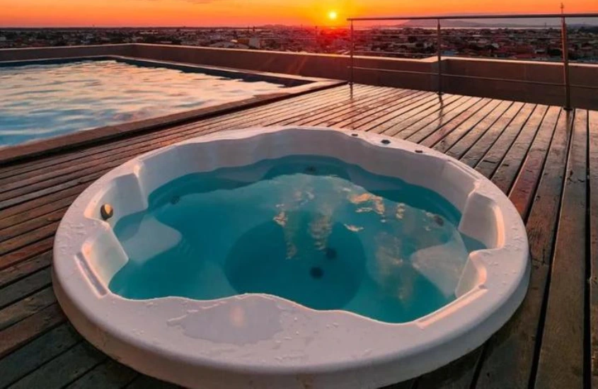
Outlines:
<svg viewBox="0 0 598 389"><path fill-rule="evenodd" d="M0 331L0 359L67 320L58 304L52 304Z"/></svg>

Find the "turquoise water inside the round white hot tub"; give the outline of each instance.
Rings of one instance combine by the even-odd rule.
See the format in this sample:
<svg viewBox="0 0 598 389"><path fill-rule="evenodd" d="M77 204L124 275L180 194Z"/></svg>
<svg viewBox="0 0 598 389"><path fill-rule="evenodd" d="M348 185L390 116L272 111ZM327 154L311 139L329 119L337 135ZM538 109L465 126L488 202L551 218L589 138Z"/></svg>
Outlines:
<svg viewBox="0 0 598 389"><path fill-rule="evenodd" d="M114 231L134 299L281 296L402 323L453 301L468 252L436 192L333 158L291 156L186 175Z"/></svg>

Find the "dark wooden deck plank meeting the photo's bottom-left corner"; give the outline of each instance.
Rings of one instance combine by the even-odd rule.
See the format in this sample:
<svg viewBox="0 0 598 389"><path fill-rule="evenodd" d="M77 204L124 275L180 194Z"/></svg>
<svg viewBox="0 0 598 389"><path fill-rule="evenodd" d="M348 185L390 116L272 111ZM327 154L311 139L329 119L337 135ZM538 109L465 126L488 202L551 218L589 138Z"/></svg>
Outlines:
<svg viewBox="0 0 598 389"><path fill-rule="evenodd" d="M0 359L0 388L18 381L23 376L51 361L81 341L71 325L59 325L45 335L33 339L20 349Z"/></svg>

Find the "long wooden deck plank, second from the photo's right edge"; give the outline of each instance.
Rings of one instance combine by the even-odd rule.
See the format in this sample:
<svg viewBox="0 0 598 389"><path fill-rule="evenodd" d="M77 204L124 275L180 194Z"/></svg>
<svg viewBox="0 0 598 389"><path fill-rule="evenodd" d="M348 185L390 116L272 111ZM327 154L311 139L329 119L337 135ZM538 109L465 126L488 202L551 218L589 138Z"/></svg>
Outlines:
<svg viewBox="0 0 598 389"><path fill-rule="evenodd" d="M577 110L549 279L536 388L584 387L587 112Z"/></svg>

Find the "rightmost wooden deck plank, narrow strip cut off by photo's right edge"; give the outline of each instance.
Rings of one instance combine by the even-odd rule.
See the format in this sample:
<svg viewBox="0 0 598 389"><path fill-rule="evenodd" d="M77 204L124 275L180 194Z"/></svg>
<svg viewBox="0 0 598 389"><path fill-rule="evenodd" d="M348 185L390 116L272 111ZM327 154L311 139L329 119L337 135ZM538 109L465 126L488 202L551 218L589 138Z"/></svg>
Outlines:
<svg viewBox="0 0 598 389"><path fill-rule="evenodd" d="M590 364L591 385L598 389L598 111L588 112L590 190Z"/></svg>

